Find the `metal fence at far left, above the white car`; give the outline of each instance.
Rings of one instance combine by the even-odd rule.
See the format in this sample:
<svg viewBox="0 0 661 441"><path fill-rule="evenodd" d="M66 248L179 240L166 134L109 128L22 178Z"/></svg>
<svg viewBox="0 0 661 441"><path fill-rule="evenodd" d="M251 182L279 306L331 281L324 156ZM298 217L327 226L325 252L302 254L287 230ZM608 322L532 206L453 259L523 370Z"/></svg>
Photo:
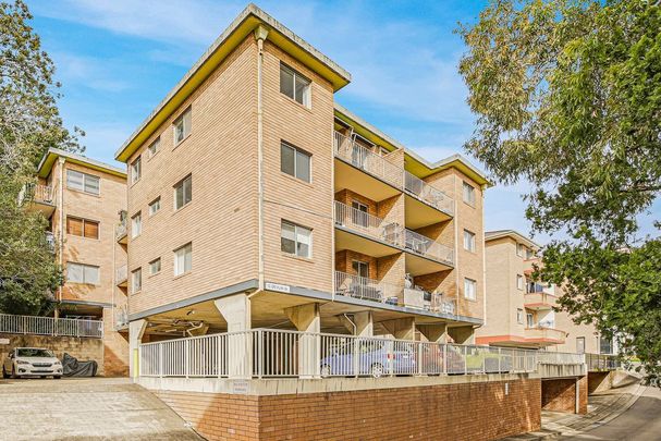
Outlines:
<svg viewBox="0 0 661 441"><path fill-rule="evenodd" d="M103 336L103 321L0 314L0 332L100 339Z"/></svg>

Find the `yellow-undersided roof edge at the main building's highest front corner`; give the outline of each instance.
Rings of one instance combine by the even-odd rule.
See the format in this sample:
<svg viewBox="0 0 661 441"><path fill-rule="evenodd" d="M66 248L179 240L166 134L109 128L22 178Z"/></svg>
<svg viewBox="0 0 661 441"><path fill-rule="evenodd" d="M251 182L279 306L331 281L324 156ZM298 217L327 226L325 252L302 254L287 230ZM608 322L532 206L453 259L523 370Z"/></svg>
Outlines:
<svg viewBox="0 0 661 441"><path fill-rule="evenodd" d="M211 72L259 25L265 25L269 29L268 40L328 79L333 85L335 91L351 82L351 74L347 71L307 44L276 19L250 3L131 135L117 151L115 159L126 162L131 155L151 136Z"/></svg>

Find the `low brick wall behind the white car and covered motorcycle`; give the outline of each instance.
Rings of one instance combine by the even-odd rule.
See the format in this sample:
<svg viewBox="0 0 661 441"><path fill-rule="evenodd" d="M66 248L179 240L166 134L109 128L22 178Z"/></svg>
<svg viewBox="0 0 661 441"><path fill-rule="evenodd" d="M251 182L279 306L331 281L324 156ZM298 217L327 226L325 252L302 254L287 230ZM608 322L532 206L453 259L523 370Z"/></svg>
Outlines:
<svg viewBox="0 0 661 441"><path fill-rule="evenodd" d="M103 372L103 342L101 339L76 339L73 336L23 335L0 333L0 339L9 339L9 344L0 345L0 359L4 359L14 347L44 347L62 359L64 353L79 360L96 360L98 375Z"/></svg>

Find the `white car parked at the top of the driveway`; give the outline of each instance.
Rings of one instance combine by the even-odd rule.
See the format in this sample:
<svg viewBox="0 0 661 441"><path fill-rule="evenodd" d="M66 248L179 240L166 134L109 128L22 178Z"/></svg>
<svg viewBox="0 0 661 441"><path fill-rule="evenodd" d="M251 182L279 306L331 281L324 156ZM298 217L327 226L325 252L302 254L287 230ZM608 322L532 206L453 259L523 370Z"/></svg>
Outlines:
<svg viewBox="0 0 661 441"><path fill-rule="evenodd" d="M2 378L62 377L62 362L41 347L15 347L2 364Z"/></svg>

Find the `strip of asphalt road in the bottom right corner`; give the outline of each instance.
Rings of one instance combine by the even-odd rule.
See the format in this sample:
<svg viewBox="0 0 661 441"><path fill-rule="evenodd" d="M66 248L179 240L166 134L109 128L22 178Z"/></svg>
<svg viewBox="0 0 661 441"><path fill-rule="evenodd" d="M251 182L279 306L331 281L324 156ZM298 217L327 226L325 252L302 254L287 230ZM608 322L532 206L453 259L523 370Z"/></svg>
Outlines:
<svg viewBox="0 0 661 441"><path fill-rule="evenodd" d="M601 427L578 436L559 439L661 441L661 389L646 388L632 407Z"/></svg>

